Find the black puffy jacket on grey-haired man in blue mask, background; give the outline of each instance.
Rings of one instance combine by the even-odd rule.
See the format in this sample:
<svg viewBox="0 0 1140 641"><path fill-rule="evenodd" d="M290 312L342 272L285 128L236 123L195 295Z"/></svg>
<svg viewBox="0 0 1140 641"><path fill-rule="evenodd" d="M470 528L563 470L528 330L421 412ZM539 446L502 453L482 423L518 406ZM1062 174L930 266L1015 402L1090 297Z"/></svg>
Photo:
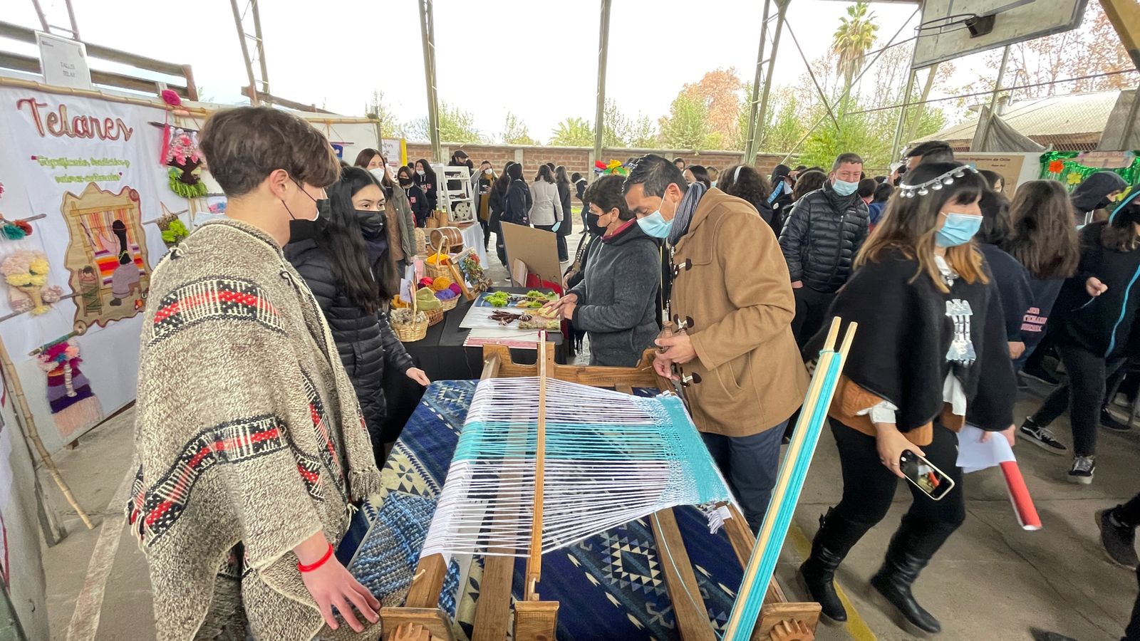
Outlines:
<svg viewBox="0 0 1140 641"><path fill-rule="evenodd" d="M866 234L866 203L857 193L840 196L824 182L822 189L805 194L780 233L791 281L817 292L838 291Z"/></svg>

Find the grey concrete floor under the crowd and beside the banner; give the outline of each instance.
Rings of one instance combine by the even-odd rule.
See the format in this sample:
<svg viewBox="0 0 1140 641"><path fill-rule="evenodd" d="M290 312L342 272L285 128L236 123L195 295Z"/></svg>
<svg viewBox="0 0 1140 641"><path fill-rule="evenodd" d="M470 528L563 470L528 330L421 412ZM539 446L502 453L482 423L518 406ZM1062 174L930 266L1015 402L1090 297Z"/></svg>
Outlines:
<svg viewBox="0 0 1140 641"><path fill-rule="evenodd" d="M577 238L572 238L571 252L576 244ZM502 278L498 273L494 275L496 281ZM1019 398L1018 416L1035 408L1040 395L1048 390L1034 391ZM154 639L146 562L122 527L124 501L113 501L128 473L132 419L133 412L123 413L58 459L64 478L80 504L97 517L97 522L93 530L87 530L74 513L67 514L70 536L44 550L52 640L68 639L68 626L75 626L74 641ZM1070 444L1066 420L1062 417L1054 427L1058 438ZM1021 471L1044 522L1040 532L1018 527L1000 472L986 470L968 476L963 484L968 496L967 521L935 557L914 590L920 602L942 619L940 636L1031 639L1029 630L1037 627L1080 641L1119 639L1137 594L1135 575L1106 560L1093 512L1126 501L1140 490L1135 473L1140 469L1138 446L1140 430L1129 433L1102 430L1097 478L1091 486L1065 480L1069 459L1052 456L1029 445L1017 447ZM44 487L57 492L51 484ZM777 577L791 599L805 597L793 571L807 552L819 516L838 501L840 490L834 441L830 431L824 430L777 569ZM52 498L56 505L66 505L62 496ZM871 598L866 583L910 501L910 493L899 488L890 514L864 537L840 569L839 583L857 611L858 616L853 617L857 620L846 627L821 625L819 639L914 638ZM104 528L98 545L104 550L117 545L105 570L90 561ZM106 571L107 577L101 594L100 571ZM82 611L73 617L84 582L93 590L88 590ZM861 622L865 622L865 627L861 627ZM97 632L80 634L82 628Z"/></svg>

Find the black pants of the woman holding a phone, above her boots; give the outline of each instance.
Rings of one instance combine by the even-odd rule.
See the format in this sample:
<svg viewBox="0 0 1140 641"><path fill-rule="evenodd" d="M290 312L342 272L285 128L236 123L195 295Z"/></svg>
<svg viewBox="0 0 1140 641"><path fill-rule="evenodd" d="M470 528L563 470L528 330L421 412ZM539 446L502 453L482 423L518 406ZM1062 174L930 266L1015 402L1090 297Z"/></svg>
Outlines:
<svg viewBox="0 0 1140 641"><path fill-rule="evenodd" d="M954 480L954 489L942 501L934 501L914 484L899 481L879 462L874 437L853 430L834 419L830 422L844 476L844 496L836 505L834 514L870 529L887 516L895 489L903 482L914 497L903 520L913 530L922 533L911 542L907 551L922 559L933 557L966 520L962 470L956 465L958 436L936 422L934 440L922 446L927 460ZM850 545L854 543L852 541Z"/></svg>

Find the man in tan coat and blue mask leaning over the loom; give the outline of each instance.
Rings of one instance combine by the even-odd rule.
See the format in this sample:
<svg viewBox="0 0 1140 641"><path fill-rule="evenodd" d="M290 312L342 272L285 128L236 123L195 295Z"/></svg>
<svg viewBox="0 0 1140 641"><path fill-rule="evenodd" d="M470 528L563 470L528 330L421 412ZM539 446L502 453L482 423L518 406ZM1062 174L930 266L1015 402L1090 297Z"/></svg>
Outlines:
<svg viewBox="0 0 1140 641"><path fill-rule="evenodd" d="M754 532L772 497L780 441L807 389L791 320L788 266L748 202L686 185L668 160L638 159L625 182L642 229L666 240L666 313L684 332L659 339L659 374L682 382L697 429Z"/></svg>

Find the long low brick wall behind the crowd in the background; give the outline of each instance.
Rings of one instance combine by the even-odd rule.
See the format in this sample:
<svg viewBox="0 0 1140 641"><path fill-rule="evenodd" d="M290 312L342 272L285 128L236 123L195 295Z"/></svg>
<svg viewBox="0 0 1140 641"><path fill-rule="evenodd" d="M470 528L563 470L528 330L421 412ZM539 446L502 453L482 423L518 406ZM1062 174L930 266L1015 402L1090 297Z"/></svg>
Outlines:
<svg viewBox="0 0 1140 641"><path fill-rule="evenodd" d="M496 171L500 171L507 161L522 163L523 173L529 180L538 165L553 162L555 165L565 165L567 171L586 173L594 164L594 149L589 147L551 147L531 145L459 145L445 143L443 159L439 162L447 162L451 152L463 149L475 161L475 164L487 160L491 162ZM630 157L654 153L668 159L683 157L690 164L712 165L717 169L725 169L740 162L740 152L693 152L679 149L627 149L613 148L603 149L602 160L620 160L625 162ZM431 145L426 143L408 143L408 161L415 162L417 159L437 160L431 156ZM783 159L781 154L757 154L755 167L765 176L772 173L776 164Z"/></svg>

